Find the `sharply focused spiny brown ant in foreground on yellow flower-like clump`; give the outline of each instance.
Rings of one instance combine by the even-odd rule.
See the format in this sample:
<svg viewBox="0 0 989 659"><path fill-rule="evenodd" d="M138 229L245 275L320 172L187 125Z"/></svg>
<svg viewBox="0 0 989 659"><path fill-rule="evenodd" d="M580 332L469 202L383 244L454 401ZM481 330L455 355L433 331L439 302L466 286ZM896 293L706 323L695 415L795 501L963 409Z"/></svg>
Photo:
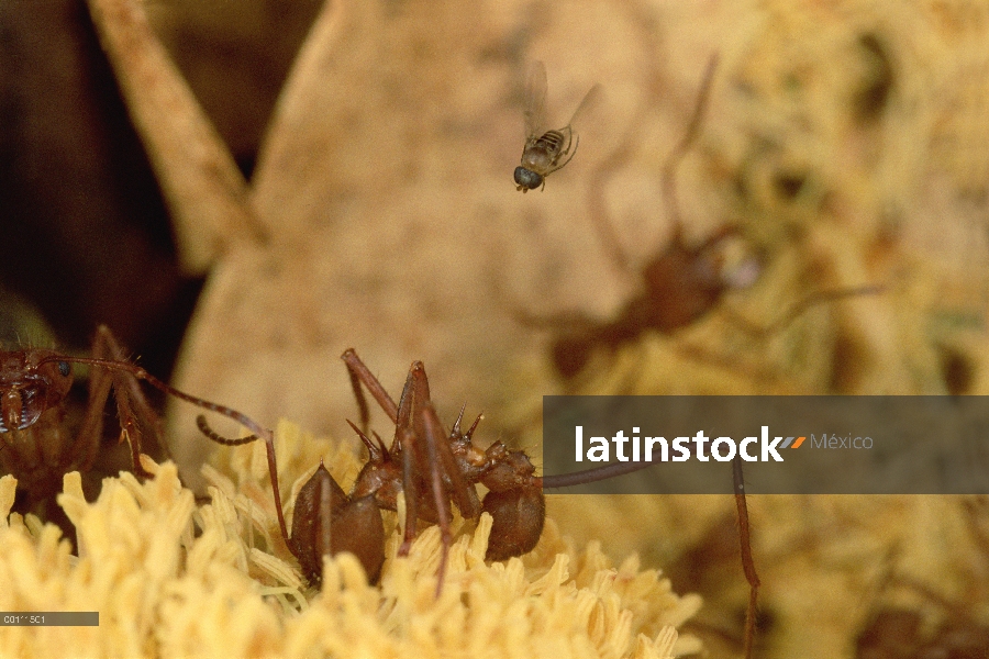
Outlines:
<svg viewBox="0 0 989 659"><path fill-rule="evenodd" d="M353 423L351 427L367 447L369 459L358 473L349 495L320 463L299 491L291 535L281 509L273 433L243 415L230 415L255 434L243 439L227 439L210 428L202 416L198 418L203 434L220 444L241 445L264 438L281 535L310 583L319 584L322 579L322 557L340 551L351 551L357 556L368 578L373 581L377 579L385 561L380 511L397 510L399 492L405 499L405 527L399 556L408 555L418 534L419 520L440 526L438 595L452 544L451 503L466 518L477 520L482 512L491 515L491 534L485 558L505 560L527 554L538 543L546 514L544 489L594 482L652 466L649 462L618 463L577 473L537 477L524 451L509 450L501 442L494 442L484 450L474 445L473 435L484 415L478 415L464 432L460 426L464 418L462 409L449 433L446 433L430 398L429 379L421 361L412 364L402 394L396 403L353 349L346 350L342 359L347 366L360 415L362 427ZM390 448L377 434L373 434L374 439L367 435L370 413L363 388L367 388L396 426ZM752 559L748 509L741 462L737 460L734 482L743 566L751 585L745 628L745 655L748 657L755 635L759 581ZM489 490L484 501L477 494L478 483Z"/></svg>

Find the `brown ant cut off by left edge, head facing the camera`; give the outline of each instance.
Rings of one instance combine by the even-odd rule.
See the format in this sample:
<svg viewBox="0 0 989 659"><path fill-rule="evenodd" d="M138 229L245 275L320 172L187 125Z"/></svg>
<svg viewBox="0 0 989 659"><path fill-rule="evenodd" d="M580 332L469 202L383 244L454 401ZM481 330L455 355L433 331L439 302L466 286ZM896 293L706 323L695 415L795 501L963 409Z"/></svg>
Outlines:
<svg viewBox="0 0 989 659"><path fill-rule="evenodd" d="M225 415L232 412L178 391L127 361L105 325L97 328L91 354L86 358L44 348L0 350L0 473L18 479L29 510L59 492L65 473L92 468L111 390L120 416L120 440L127 440L133 471L141 478L151 476L141 466L142 445L152 440L164 448L164 443L162 423L138 380L200 407ZM78 428L70 426L66 413L73 364L90 367L89 401ZM57 516L44 511L46 517L48 513Z"/></svg>

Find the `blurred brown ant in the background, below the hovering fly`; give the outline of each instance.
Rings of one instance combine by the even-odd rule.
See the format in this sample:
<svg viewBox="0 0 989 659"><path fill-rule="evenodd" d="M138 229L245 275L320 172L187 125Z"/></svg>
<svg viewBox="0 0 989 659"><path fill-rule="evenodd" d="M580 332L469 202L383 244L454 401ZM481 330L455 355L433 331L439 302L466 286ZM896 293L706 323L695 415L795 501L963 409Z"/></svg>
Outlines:
<svg viewBox="0 0 989 659"><path fill-rule="evenodd" d="M594 349L605 348L614 353L646 332L673 334L688 327L716 308L727 291L751 286L758 276L760 264L756 258L743 261L737 272L725 271L724 243L727 238L740 234L737 226L723 226L697 246L689 246L684 237L684 224L676 197L676 170L700 133L716 65L718 57L714 56L704 71L687 131L663 167L662 190L674 234L669 244L641 268L638 273L642 281L641 291L625 303L614 320L607 322L587 317L579 312L549 317L534 316L524 311L515 312L523 324L563 330L554 340L552 357L557 372L564 380L571 380L578 376L587 366ZM629 258L620 246L614 228L604 217L605 211L600 193L607 175L631 153L632 136L626 138L598 169L594 180L589 186L591 215L594 217L598 233L607 244L613 260L624 270L629 269ZM810 306L881 290L882 287L868 286L819 291L799 301L769 327L747 327L747 330L754 334L769 335L786 327Z"/></svg>

